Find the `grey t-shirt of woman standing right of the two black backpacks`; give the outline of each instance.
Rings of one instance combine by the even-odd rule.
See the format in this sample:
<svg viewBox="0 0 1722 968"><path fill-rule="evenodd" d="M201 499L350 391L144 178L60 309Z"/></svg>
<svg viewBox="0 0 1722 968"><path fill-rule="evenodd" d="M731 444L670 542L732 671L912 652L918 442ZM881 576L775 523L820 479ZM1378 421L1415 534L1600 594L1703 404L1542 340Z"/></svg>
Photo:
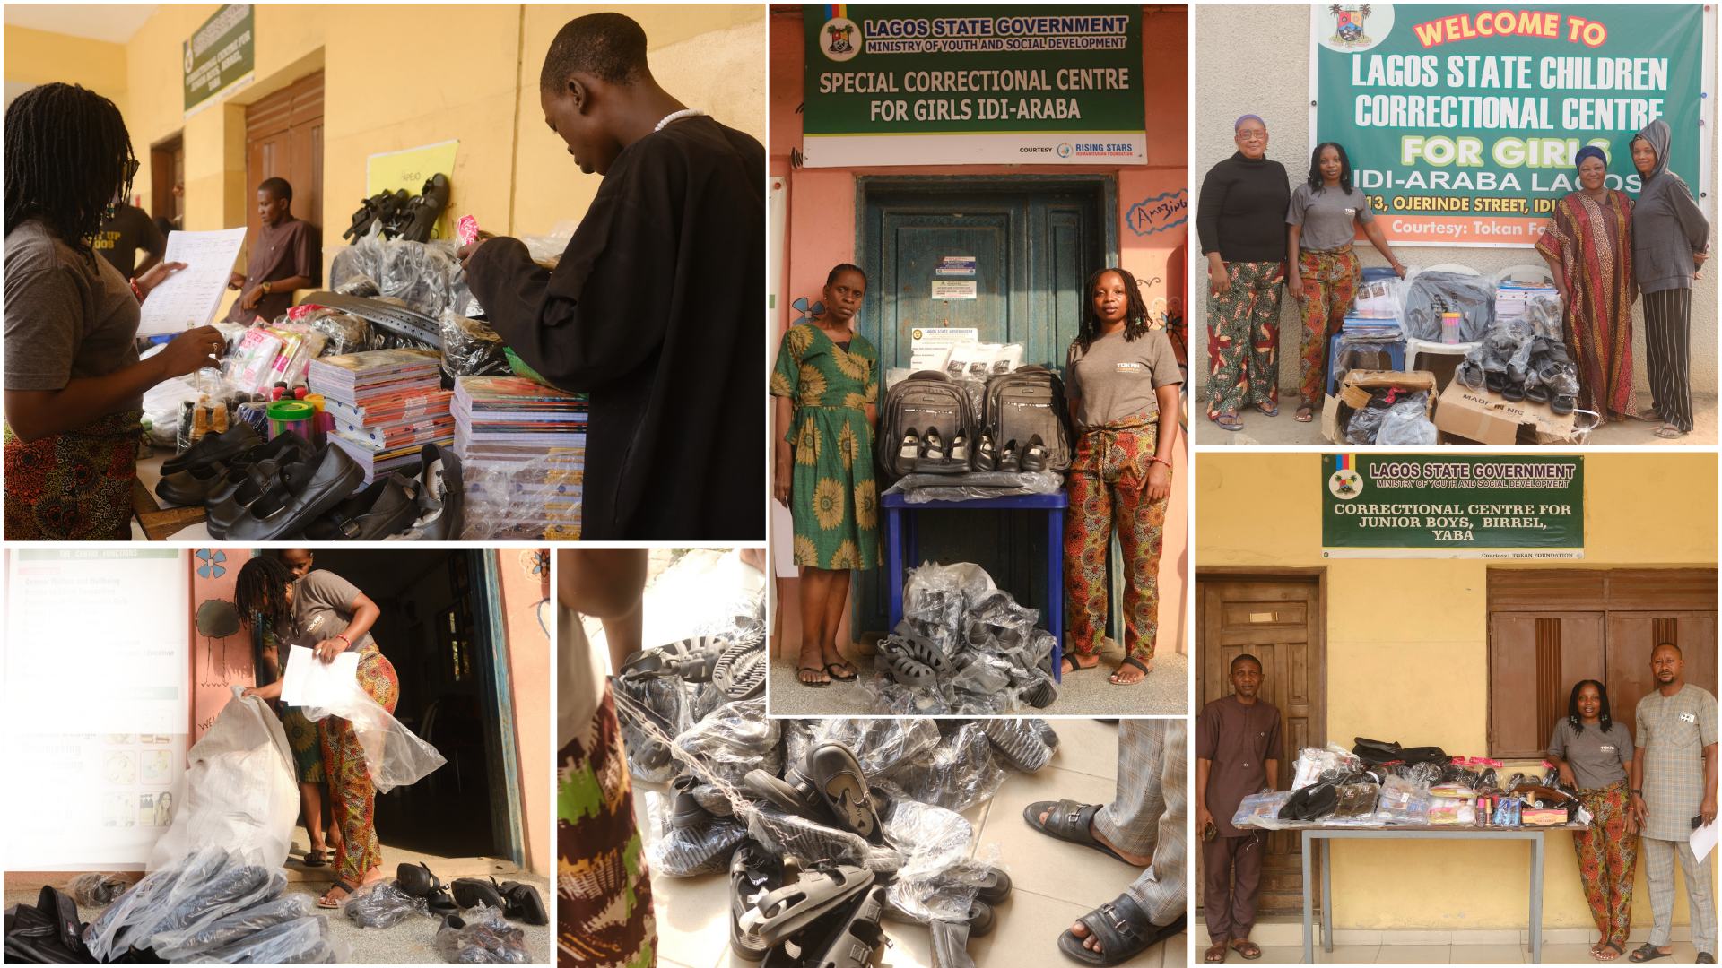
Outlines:
<svg viewBox="0 0 1722 968"><path fill-rule="evenodd" d="M1183 382L1178 355L1164 329L1150 329L1135 339L1124 331L1095 338L1085 353L1071 341L1064 365L1064 396L1081 400L1078 427L1104 427L1126 417L1157 417L1157 388Z"/></svg>

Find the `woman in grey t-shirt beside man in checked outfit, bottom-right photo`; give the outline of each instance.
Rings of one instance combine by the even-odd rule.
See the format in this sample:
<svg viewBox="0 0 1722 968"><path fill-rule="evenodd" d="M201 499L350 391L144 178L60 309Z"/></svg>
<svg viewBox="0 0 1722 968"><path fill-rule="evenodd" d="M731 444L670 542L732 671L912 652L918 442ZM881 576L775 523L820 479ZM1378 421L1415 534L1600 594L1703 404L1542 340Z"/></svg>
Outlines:
<svg viewBox="0 0 1722 968"><path fill-rule="evenodd" d="M1603 935L1591 946L1591 958L1614 961L1626 954L1626 935L1632 930L1638 818L1627 810L1632 734L1608 715L1601 682L1586 679L1572 687L1567 718L1555 723L1548 739L1548 763L1591 811L1591 825L1572 835L1572 849L1579 854L1584 899Z"/></svg>

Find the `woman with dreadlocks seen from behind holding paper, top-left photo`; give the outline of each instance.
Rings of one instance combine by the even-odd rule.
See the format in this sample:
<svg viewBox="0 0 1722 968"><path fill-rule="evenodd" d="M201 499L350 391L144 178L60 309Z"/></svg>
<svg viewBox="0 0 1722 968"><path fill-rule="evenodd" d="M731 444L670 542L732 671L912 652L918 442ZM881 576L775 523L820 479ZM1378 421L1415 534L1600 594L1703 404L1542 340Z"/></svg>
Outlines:
<svg viewBox="0 0 1722 968"><path fill-rule="evenodd" d="M184 269L131 279L91 236L138 160L114 102L31 88L5 112L5 537L126 541L143 391L226 346L212 326L138 360L138 307Z"/></svg>

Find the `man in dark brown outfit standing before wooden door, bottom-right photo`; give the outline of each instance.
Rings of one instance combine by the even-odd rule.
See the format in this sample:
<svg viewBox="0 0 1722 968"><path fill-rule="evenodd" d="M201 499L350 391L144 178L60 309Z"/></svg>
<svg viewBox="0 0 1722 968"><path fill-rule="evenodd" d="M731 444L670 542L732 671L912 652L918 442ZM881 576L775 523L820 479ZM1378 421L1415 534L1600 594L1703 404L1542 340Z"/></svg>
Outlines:
<svg viewBox="0 0 1722 968"><path fill-rule="evenodd" d="M1279 710L1257 698L1261 660L1248 653L1231 660L1231 696L1202 706L1195 727L1195 828L1202 837L1202 913L1212 942L1204 961L1209 965L1223 963L1228 946L1243 958L1261 958L1250 928L1255 927L1266 844L1259 830L1238 830L1231 818L1243 797L1262 787L1279 787ZM1207 837L1211 823L1212 839Z"/></svg>

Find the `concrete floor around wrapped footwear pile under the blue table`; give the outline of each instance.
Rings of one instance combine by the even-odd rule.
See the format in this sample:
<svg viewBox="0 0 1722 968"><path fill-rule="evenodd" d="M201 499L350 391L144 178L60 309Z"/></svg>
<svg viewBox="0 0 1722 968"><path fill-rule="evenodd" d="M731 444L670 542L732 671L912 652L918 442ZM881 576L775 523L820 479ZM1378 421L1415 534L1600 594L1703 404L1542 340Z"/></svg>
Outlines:
<svg viewBox="0 0 1722 968"><path fill-rule="evenodd" d="M1190 715L1190 656L1168 651L1154 656L1154 672L1135 686L1114 686L1109 677L1124 651L1107 639L1100 667L1068 673L1059 698L1040 717L1186 717ZM861 675L854 682L832 682L809 689L796 679L796 660L777 656L766 684L766 706L773 717L878 715L863 682L873 680L873 656L854 658Z"/></svg>

